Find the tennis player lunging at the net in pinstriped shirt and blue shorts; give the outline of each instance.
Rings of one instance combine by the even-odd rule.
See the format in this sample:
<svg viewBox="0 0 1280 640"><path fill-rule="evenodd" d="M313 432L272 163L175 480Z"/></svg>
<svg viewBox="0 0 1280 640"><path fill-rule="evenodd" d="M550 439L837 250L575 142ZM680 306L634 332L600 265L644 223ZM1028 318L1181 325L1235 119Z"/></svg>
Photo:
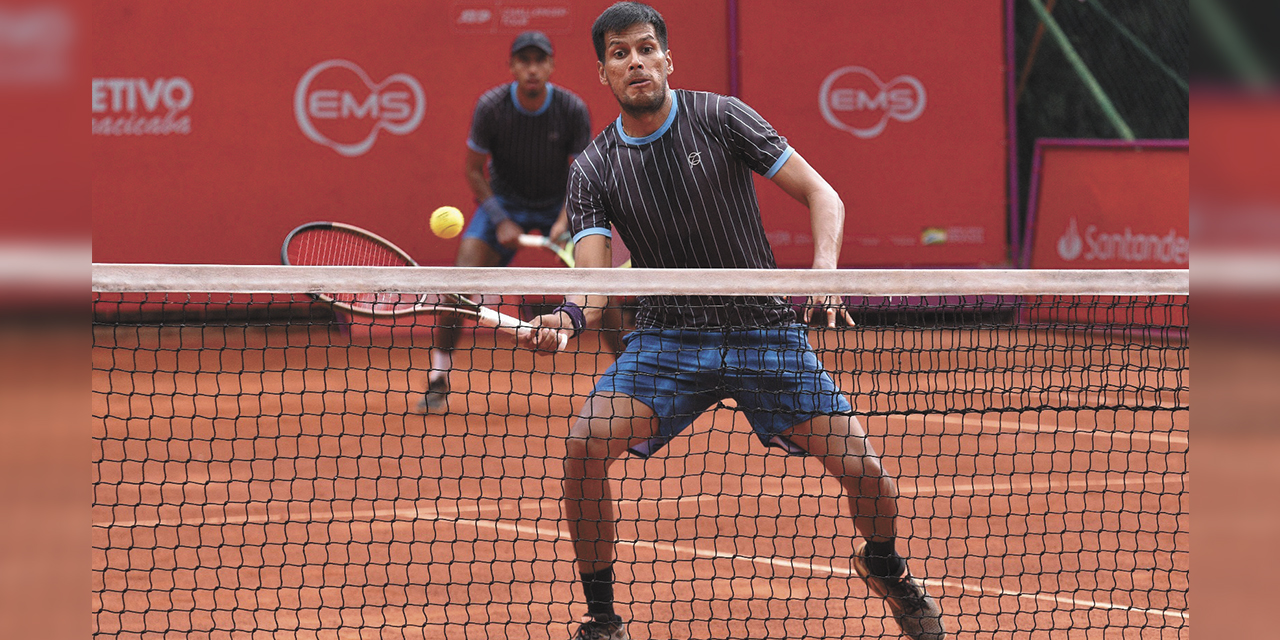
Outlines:
<svg viewBox="0 0 1280 640"><path fill-rule="evenodd" d="M814 269L835 269L844 204L754 110L733 97L667 83L667 26L653 8L618 3L591 27L600 83L622 114L573 163L570 227L581 268L608 268L611 225L637 268L773 269L751 172L809 207ZM571 298L539 316L521 340L556 351L561 332L599 321L604 297ZM813 300L833 326L851 321L838 300ZM805 317L808 320L808 317ZM650 456L699 413L733 398L765 444L819 458L849 495L864 538L851 562L884 598L904 635L946 637L942 612L895 548L897 488L852 407L809 346L791 306L776 297L646 297L626 351L599 379L572 425L564 517L588 617L577 640L628 640L613 607L616 516L609 466Z"/></svg>

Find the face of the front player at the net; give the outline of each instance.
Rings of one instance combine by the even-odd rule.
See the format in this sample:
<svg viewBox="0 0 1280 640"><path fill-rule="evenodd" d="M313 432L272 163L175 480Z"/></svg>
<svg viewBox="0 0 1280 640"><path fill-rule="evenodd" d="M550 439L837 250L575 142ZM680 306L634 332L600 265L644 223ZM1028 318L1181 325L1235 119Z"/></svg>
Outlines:
<svg viewBox="0 0 1280 640"><path fill-rule="evenodd" d="M652 24L635 24L604 36L600 83L608 84L623 110L658 111L667 102L671 54L663 51Z"/></svg>

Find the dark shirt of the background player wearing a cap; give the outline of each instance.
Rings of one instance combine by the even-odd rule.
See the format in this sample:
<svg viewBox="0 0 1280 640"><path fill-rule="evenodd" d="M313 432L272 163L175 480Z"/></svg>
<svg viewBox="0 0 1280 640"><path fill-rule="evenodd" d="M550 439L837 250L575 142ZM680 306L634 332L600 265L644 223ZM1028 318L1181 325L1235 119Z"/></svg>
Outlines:
<svg viewBox="0 0 1280 640"><path fill-rule="evenodd" d="M486 91L476 101L467 146L489 154L489 187L513 206L549 209L564 201L568 160L591 140L586 104L547 83L547 101L527 111L516 83Z"/></svg>

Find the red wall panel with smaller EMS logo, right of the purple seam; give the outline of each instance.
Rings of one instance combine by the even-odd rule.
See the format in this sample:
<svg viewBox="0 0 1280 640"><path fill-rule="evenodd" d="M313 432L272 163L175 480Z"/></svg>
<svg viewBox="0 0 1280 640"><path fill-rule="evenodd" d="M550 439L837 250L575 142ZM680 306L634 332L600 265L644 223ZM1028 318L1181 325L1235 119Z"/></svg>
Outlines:
<svg viewBox="0 0 1280 640"><path fill-rule="evenodd" d="M840 192L842 265L1006 261L1005 3L742 0L740 20L742 99ZM805 209L759 192L780 262L809 266Z"/></svg>

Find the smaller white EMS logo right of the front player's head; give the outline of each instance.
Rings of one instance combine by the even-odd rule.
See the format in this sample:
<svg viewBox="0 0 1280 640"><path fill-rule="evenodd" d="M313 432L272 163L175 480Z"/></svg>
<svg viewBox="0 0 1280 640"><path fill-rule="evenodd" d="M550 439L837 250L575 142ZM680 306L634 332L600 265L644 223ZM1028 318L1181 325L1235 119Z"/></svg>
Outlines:
<svg viewBox="0 0 1280 640"><path fill-rule="evenodd" d="M863 67L831 72L818 93L827 124L861 140L879 136L890 119L915 120L924 113L924 84L914 76L899 76L886 83Z"/></svg>

